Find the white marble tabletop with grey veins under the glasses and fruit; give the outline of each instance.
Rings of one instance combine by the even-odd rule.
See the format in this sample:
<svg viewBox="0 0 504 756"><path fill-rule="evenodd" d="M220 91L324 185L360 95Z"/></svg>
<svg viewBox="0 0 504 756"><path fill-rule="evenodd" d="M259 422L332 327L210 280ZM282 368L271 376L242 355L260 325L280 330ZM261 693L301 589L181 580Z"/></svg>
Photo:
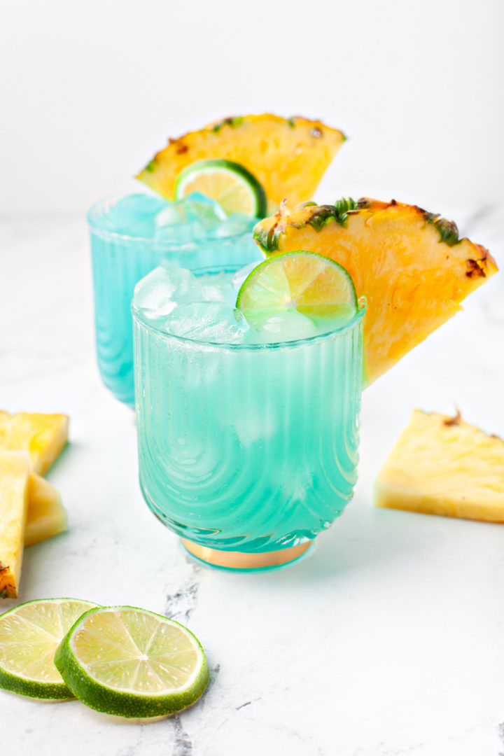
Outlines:
<svg viewBox="0 0 504 756"><path fill-rule="evenodd" d="M453 212L500 265L499 208ZM60 411L71 444L48 474L70 531L26 550L21 600L79 596L174 617L206 649L194 708L123 724L79 702L0 691L19 756L498 756L504 751L504 527L373 508L373 479L413 407L504 435L504 284L363 397L360 480L344 516L288 569L192 562L149 513L133 415L100 384L81 218L0 222L0 404ZM0 610L14 606L5 601Z"/></svg>

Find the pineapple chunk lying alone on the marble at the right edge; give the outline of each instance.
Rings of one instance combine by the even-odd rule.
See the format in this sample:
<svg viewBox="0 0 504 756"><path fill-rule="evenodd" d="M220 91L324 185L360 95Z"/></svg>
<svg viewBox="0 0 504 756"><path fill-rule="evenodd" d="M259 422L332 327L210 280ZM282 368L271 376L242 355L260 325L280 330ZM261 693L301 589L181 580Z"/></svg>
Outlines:
<svg viewBox="0 0 504 756"><path fill-rule="evenodd" d="M376 479L375 504L504 522L504 441L459 414L415 410Z"/></svg>

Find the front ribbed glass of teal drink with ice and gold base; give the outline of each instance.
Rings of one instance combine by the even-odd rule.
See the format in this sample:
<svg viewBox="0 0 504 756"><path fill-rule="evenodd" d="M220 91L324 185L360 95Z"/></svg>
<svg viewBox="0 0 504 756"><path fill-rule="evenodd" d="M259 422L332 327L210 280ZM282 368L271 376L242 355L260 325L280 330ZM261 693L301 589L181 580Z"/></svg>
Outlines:
<svg viewBox="0 0 504 756"><path fill-rule="evenodd" d="M178 280L156 311L153 292L179 277L157 269L132 307L141 489L193 553L224 566L297 556L357 479L363 305L329 333L310 323L308 337L279 342L233 309L247 272ZM181 303L170 309L170 297ZM238 564L210 550L265 558Z"/></svg>

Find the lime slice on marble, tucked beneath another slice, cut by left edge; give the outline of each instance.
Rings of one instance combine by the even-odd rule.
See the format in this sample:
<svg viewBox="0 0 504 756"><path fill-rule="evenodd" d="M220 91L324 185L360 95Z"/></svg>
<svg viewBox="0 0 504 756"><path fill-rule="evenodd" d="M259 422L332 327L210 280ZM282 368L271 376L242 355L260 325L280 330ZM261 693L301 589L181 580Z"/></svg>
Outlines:
<svg viewBox="0 0 504 756"><path fill-rule="evenodd" d="M0 615L0 687L34 699L73 699L54 666L54 652L94 606L79 599L40 599Z"/></svg>

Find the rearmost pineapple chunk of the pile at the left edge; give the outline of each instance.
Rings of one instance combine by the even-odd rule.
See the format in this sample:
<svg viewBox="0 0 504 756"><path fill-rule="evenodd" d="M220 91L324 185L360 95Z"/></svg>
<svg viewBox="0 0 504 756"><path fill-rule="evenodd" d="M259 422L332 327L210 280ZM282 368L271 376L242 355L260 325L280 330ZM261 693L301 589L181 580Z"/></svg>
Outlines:
<svg viewBox="0 0 504 756"><path fill-rule="evenodd" d="M66 415L0 411L0 449L26 449L39 475L51 467L67 441Z"/></svg>

